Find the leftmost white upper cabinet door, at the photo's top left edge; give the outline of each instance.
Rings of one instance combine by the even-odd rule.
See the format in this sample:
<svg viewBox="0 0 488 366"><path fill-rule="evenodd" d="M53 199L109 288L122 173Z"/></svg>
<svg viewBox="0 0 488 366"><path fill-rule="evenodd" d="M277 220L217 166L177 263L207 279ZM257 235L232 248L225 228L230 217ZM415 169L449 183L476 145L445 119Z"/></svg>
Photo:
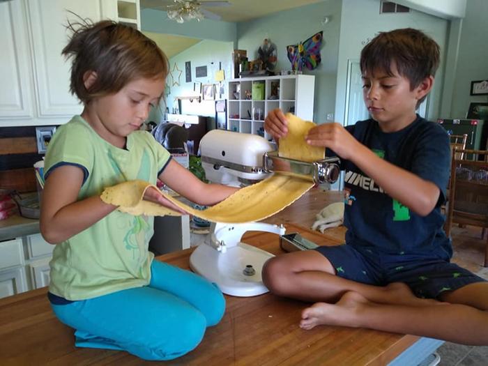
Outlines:
<svg viewBox="0 0 488 366"><path fill-rule="evenodd" d="M0 3L0 120L33 117L31 57L24 1Z"/></svg>

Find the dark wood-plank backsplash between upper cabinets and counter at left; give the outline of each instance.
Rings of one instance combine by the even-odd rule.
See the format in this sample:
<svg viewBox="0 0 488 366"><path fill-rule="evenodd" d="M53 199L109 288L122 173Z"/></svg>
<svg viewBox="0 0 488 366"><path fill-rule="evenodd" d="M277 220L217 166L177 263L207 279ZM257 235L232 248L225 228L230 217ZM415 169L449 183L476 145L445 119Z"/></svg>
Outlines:
<svg viewBox="0 0 488 366"><path fill-rule="evenodd" d="M42 160L36 143L36 127L0 128L0 188L36 191L33 165Z"/></svg>

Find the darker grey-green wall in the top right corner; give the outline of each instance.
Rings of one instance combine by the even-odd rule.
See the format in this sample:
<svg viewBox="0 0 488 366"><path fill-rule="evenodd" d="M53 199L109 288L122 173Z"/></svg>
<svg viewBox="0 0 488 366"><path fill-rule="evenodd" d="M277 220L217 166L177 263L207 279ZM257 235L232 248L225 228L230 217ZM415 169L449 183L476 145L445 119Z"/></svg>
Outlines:
<svg viewBox="0 0 488 366"><path fill-rule="evenodd" d="M451 117L464 117L470 102L488 102L488 96L470 96L471 82L488 79L488 1L468 0L462 20L457 71L452 90Z"/></svg>

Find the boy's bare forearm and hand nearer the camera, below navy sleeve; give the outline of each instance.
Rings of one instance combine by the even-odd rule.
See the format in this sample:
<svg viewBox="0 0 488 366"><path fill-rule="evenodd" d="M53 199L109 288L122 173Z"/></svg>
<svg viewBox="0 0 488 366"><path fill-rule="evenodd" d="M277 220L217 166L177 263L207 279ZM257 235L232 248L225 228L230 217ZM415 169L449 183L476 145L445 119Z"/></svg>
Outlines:
<svg viewBox="0 0 488 366"><path fill-rule="evenodd" d="M318 125L305 139L313 146L326 146L341 158L353 162L390 197L418 215L431 213L439 200L441 191L437 185L379 158L339 123Z"/></svg>

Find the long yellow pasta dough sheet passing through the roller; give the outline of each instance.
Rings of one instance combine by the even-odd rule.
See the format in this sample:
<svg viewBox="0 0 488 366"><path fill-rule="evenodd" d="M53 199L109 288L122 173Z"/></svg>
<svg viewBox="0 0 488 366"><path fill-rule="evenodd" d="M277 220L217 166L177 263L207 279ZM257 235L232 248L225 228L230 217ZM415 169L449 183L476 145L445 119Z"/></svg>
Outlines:
<svg viewBox="0 0 488 366"><path fill-rule="evenodd" d="M293 127L289 129L287 139L291 134L295 133L300 133L305 137L307 130L312 128L314 123L307 123L293 115L291 116L293 117L293 122L290 121L290 115L287 115L290 121L289 124L291 125L293 123ZM303 159L303 154L301 154L303 148L307 147L303 138L292 138L285 143L285 146L287 146L287 154L291 154L289 156L290 158L305 160ZM281 149L282 140L280 140L280 152ZM321 158L323 158L323 148L321 149ZM314 153L314 156L320 155L317 152ZM320 158L314 158L312 160L317 159ZM306 160L312 161L310 157ZM179 208L204 220L241 223L264 220L274 215L300 198L313 185L314 183L312 181L305 181L282 174L273 174L273 176L266 178L264 181L241 188L241 190L227 197L224 201L202 211L196 210L164 192L160 193ZM160 204L144 201L142 199L144 192L151 186L155 187L146 181L128 181L106 188L102 192L101 198L107 204L119 206L119 211L131 213L132 215L181 215L181 213L172 211Z"/></svg>

